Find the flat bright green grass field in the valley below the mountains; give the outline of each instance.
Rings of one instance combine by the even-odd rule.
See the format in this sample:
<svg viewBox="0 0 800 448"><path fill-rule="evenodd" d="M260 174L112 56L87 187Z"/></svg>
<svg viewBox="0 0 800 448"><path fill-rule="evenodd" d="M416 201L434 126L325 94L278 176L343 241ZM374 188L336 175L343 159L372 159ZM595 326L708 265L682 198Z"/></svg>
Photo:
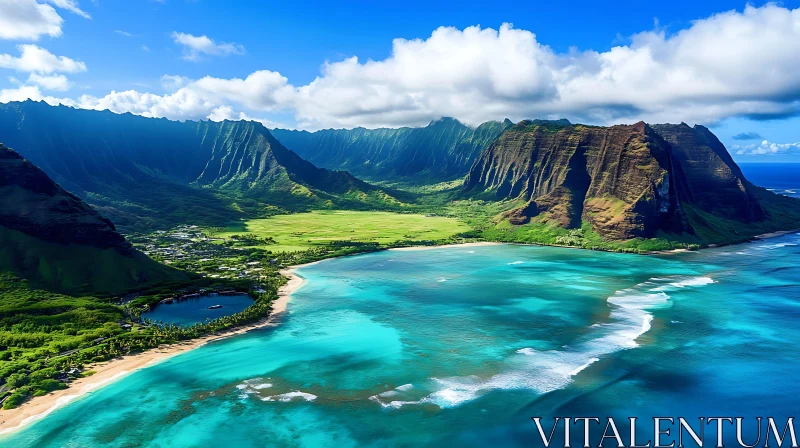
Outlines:
<svg viewBox="0 0 800 448"><path fill-rule="evenodd" d="M389 212L313 211L251 219L228 226L215 237L253 235L271 237L277 244L263 245L273 252L294 252L332 241L391 244L396 241L438 240L469 231L454 218Z"/></svg>

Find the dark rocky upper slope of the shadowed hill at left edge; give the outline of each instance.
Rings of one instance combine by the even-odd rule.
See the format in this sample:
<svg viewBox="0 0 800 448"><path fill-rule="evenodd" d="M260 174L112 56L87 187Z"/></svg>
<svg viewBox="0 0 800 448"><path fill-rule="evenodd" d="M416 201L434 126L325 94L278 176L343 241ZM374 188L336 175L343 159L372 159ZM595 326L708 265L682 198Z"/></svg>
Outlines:
<svg viewBox="0 0 800 448"><path fill-rule="evenodd" d="M132 252L109 220L2 144L0 226L49 242Z"/></svg>

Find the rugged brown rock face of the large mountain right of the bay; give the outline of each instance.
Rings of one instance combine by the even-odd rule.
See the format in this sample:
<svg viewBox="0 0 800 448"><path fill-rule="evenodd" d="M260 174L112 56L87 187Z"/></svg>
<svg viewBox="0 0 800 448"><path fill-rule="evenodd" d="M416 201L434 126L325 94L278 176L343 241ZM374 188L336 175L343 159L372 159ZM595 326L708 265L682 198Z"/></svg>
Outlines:
<svg viewBox="0 0 800 448"><path fill-rule="evenodd" d="M755 221L764 211L722 143L697 126L597 127L523 121L476 160L464 189L527 204L512 224L535 218L604 237L694 233L683 204L726 219Z"/></svg>

